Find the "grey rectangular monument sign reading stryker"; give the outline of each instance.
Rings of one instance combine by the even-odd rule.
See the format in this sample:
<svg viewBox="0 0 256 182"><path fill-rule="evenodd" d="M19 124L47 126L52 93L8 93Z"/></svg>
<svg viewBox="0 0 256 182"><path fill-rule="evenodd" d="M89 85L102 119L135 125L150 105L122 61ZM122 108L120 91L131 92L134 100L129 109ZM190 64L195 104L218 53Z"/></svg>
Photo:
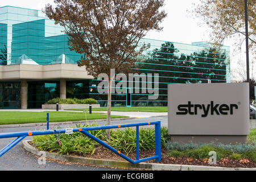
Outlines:
<svg viewBox="0 0 256 182"><path fill-rule="evenodd" d="M168 132L174 139L245 142L249 113L246 82L168 85Z"/></svg>

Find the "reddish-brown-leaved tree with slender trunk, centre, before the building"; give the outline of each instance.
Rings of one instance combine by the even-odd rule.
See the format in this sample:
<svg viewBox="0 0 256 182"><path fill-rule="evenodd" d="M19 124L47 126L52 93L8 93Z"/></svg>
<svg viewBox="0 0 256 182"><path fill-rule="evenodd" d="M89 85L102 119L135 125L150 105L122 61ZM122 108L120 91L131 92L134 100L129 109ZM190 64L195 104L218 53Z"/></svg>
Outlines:
<svg viewBox="0 0 256 182"><path fill-rule="evenodd" d="M49 19L65 28L71 50L81 54L79 66L89 75L106 73L108 80L108 125L111 88L115 73L131 73L137 56L150 45L140 42L148 31L161 31L166 17L164 0L55 0L46 5ZM110 131L107 131L110 139Z"/></svg>

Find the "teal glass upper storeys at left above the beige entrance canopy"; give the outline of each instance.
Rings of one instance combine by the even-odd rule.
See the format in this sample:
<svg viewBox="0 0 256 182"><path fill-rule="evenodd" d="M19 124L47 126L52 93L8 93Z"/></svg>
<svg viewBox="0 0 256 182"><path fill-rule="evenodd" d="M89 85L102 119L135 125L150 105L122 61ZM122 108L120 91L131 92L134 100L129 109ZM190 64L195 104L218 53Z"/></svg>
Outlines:
<svg viewBox="0 0 256 182"><path fill-rule="evenodd" d="M42 11L0 7L0 64L76 64L63 30Z"/></svg>

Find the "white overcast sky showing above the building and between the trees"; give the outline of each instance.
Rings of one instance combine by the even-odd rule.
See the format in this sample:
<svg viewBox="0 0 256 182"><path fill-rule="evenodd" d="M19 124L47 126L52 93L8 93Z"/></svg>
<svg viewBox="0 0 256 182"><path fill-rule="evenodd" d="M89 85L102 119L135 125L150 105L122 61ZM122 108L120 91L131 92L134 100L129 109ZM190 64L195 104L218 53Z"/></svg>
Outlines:
<svg viewBox="0 0 256 182"><path fill-rule="evenodd" d="M207 34L209 29L206 26L200 27L198 25L200 19L194 19L187 13L187 10L192 8L192 2L198 3L199 0L166 0L164 10L167 13L167 17L161 24L161 26L164 27L163 31L150 31L145 38L186 44L200 41L209 42L210 38ZM47 3L54 5L53 0L1 0L0 7L16 6L42 10ZM238 55L232 55L232 40L226 40L224 45L230 46L231 69L234 69L236 67L235 62L237 61L236 57L238 57ZM245 53L242 52L241 55L241 57L243 57ZM242 59L244 59L244 57Z"/></svg>

